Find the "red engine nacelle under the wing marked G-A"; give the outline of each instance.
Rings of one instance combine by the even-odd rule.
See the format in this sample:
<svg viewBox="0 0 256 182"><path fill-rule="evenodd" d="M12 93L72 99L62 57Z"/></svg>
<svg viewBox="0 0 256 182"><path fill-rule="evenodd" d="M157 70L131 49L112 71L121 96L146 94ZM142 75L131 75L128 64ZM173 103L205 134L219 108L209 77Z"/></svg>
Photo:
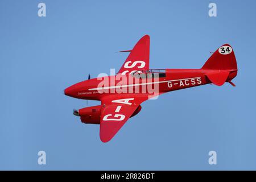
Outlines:
<svg viewBox="0 0 256 182"><path fill-rule="evenodd" d="M102 105L85 107L79 110L74 110L73 114L80 117L81 121L86 124L100 124L101 121L101 107ZM141 105L134 111L131 117L141 111ZM130 118L131 118L130 117Z"/></svg>

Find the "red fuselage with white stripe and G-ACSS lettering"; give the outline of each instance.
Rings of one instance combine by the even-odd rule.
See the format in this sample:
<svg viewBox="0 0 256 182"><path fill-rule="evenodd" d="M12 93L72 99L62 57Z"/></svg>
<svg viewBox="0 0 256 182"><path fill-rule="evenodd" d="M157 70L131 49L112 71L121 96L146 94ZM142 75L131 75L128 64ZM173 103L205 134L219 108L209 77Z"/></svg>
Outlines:
<svg viewBox="0 0 256 182"><path fill-rule="evenodd" d="M125 75L127 81L122 85L118 84L120 79L117 78L117 75L92 78L69 86L65 89L65 94L84 100L101 100L101 97L103 96L127 93L157 96L174 90L210 84L212 82L205 76L205 74L214 72L217 73L219 71L209 69L161 69L159 76L155 78L148 77L147 74L140 74L139 76ZM222 72L229 72L226 82L232 80L237 75L236 69L222 70ZM161 75L161 73L164 74ZM100 86L102 85L101 82L103 79L107 80L108 84ZM129 79L133 81L129 82ZM152 90L150 92L147 89L146 92L142 91L143 86L153 85L152 87L154 88L156 84L158 84L158 89L155 90L157 92L152 93ZM123 90L122 92L118 92L117 89ZM133 91L131 91L131 89ZM136 90L137 92L135 92Z"/></svg>

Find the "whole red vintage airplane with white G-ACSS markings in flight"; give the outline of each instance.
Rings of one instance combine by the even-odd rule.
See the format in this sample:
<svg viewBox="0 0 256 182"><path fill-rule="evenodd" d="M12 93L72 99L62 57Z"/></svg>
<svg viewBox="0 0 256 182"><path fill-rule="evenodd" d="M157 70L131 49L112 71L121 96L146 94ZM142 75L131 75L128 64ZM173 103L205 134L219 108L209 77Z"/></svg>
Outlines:
<svg viewBox="0 0 256 182"><path fill-rule="evenodd" d="M98 100L101 105L74 110L83 123L100 124L102 142L111 140L125 122L141 111L142 102L174 90L205 84L233 84L237 76L234 51L229 44L216 50L201 69L149 69L150 36L143 36L129 51L115 76L92 78L65 89L65 95Z"/></svg>

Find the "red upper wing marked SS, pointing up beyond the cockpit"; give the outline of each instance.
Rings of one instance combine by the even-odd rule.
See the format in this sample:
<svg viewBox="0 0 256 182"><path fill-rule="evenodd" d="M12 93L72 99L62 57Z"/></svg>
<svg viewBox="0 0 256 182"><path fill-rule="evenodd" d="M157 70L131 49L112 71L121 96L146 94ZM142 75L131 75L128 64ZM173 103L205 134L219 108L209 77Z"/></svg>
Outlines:
<svg viewBox="0 0 256 182"><path fill-rule="evenodd" d="M130 52L130 54L118 73L126 75L138 70L149 69L150 36L143 36L131 51L121 52Z"/></svg>

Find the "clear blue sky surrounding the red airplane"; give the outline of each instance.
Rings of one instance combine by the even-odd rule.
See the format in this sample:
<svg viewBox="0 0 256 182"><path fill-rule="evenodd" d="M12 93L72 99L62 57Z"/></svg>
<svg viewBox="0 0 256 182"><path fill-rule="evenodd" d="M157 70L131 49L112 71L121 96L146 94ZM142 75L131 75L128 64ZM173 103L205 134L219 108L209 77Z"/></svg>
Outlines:
<svg viewBox="0 0 256 182"><path fill-rule="evenodd" d="M47 16L38 16L38 3ZM217 4L210 18L208 5ZM256 1L0 1L0 169L256 169ZM63 90L117 71L145 34L150 68L201 68L232 45L238 75L146 101L109 143ZM88 106L99 105L89 101ZM38 165L44 150L47 164ZM208 152L217 152L209 165Z"/></svg>

